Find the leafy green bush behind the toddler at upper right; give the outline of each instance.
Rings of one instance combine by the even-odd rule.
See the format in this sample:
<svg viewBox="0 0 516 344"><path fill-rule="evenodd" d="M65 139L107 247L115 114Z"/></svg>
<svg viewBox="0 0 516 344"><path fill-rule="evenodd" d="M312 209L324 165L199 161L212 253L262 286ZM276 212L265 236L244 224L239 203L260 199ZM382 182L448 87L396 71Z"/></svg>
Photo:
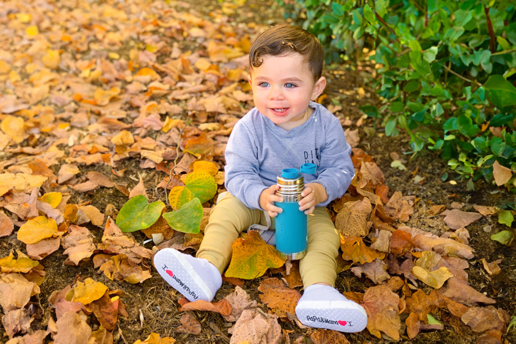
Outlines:
<svg viewBox="0 0 516 344"><path fill-rule="evenodd" d="M470 181L493 181L497 161L516 190L514 1L277 2L326 45L327 63L374 50L383 103L362 110L388 135L406 130L409 153L436 150Z"/></svg>

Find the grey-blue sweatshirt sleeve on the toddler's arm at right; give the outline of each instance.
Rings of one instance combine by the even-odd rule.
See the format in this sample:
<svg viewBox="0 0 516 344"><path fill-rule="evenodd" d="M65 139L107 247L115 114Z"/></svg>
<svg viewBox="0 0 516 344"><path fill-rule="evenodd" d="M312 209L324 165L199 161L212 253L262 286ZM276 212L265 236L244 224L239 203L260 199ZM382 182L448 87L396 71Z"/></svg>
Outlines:
<svg viewBox="0 0 516 344"><path fill-rule="evenodd" d="M328 199L317 204L318 207L326 207L334 199L341 198L354 177L351 146L346 142L338 118L333 118L326 128L326 144L320 152L317 179L313 181L324 186L328 194Z"/></svg>

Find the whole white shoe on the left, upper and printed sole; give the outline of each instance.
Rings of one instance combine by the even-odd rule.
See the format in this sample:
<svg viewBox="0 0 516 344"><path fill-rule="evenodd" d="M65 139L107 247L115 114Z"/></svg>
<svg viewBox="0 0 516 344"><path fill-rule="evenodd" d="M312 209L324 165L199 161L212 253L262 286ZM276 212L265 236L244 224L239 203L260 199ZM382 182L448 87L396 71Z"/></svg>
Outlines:
<svg viewBox="0 0 516 344"><path fill-rule="evenodd" d="M222 276L215 265L172 248L159 250L154 255L154 266L189 301L211 302L222 285Z"/></svg>

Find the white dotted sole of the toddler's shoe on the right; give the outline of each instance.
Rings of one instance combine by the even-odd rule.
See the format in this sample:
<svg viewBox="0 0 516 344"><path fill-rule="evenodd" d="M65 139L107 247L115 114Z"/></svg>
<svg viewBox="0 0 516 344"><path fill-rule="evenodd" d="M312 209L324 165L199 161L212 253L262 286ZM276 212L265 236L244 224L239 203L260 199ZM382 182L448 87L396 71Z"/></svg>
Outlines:
<svg viewBox="0 0 516 344"><path fill-rule="evenodd" d="M296 316L303 325L339 332L360 332L367 326L365 309L353 301L302 301Z"/></svg>

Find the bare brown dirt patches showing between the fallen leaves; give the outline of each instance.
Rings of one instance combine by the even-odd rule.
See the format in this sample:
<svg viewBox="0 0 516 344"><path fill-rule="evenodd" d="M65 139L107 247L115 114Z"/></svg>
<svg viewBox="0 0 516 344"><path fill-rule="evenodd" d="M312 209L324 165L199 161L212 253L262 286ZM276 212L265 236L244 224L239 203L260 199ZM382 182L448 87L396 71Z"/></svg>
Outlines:
<svg viewBox="0 0 516 344"><path fill-rule="evenodd" d="M216 1L199 1L199 6L195 7L201 15L208 15L211 11L221 11L221 6ZM239 16L244 20L261 21L262 23L275 24L281 22L281 10L275 5L273 1L248 1L246 6L238 8ZM336 115L342 118L349 117L353 123L356 123L362 116L362 112L358 109L359 105L365 104L366 99L357 99L354 97L343 97L342 90L350 90L363 87L367 92L374 93L373 90L368 89L366 81L368 79L368 72L365 70L354 70L349 65L331 66L326 72L328 78L328 86L326 94L328 98L340 95L342 99L342 110L337 111ZM373 96L372 96L373 97ZM378 125L378 123L377 123ZM351 125L351 129L359 129L361 141L359 147L375 159L380 169L385 176L385 185L390 188L390 195L394 191L399 191L403 195L415 195L418 198L416 203L416 210L411 216L410 221L406 223L407 226L421 228L433 232L435 234L442 234L446 228L437 217L427 215L427 210L431 205L444 204L448 209L451 208L453 202L463 203L462 210L472 210L474 204L496 206L501 205L513 198L509 193L499 190L488 185L485 182L479 181L475 183L475 190L468 191L466 188L467 180L460 180L446 167L444 161L440 160L435 154L422 153L415 160L410 161L408 155L404 152L409 150L408 138L404 135L398 137L386 137L383 135L381 129L374 129L375 123L373 119L366 119L364 123L357 127ZM398 153L404 164L406 170L392 168L390 154L392 152ZM138 168L139 162L137 160L127 160L123 163L121 168L127 168L127 173L123 178L114 178L115 183L125 184L128 187L134 186L138 180L138 173L142 171ZM92 167L93 168L93 167ZM107 166L94 167L96 170L111 175L110 168ZM83 171L86 173L86 171ZM446 181L441 179L445 173L449 173ZM56 171L57 173L57 171ZM414 179L423 180L422 183L416 182ZM153 178L152 175L145 177L147 180ZM422 179L423 178L423 179ZM136 180L135 180L136 179ZM456 184L451 184L449 181L455 180ZM91 201L91 204L98 209L105 209L108 203L114 204L117 209L126 202L126 197L121 193L107 188L102 188L100 191L95 191L90 194L77 194L70 199L70 202ZM502 230L502 225L499 225L494 218L482 217L479 221L474 222L467 227L470 232L470 246L472 246L476 253L476 258L469 261L470 268L467 270L469 274L469 283L482 293L485 292L490 297L496 300L497 307L504 308L510 315L516 313L516 248L512 246L502 246L490 239L490 235ZM97 237L101 239L102 231L99 228L91 226L90 230ZM141 233L134 233L135 237L143 240ZM10 243L17 240L9 240L3 238L0 240L0 256L5 256L13 248ZM23 250L23 244L20 243L19 248ZM151 248L151 244L147 244ZM45 309L40 319L33 323L33 329L38 326L45 328L49 318L53 316L51 307L48 304L48 297L54 290L59 290L68 284L73 284L76 278L85 279L88 277L94 278L107 285L110 289L120 289L125 293L122 301L126 304L126 309L129 313L127 318L119 318L118 328L114 332L116 343L134 343L137 339L144 339L151 332L159 333L162 337L171 336L176 339L178 343L229 343L230 334L228 329L233 323L226 322L219 314L212 312L193 312L196 319L201 322L202 332L200 335L189 335L176 332L175 329L181 325L179 319L183 312L179 312L178 299L181 295L176 294L164 281L159 277L158 273L152 269L152 278L144 281L141 284L127 284L125 282L111 281L103 274L99 274L93 268L91 261L86 262L79 267L63 268L63 262L66 255L61 254L62 249L54 254L46 257L41 261L45 267L45 271L49 278L46 278L41 287L41 293L38 295L37 303ZM497 276L490 277L483 270L479 260L485 258L491 262L496 259L502 259L500 267L502 273ZM259 279L246 281L244 289L250 294L252 299L259 300L257 297L257 286L260 285L261 279L270 277L270 273ZM372 286L372 282L365 277L357 278L350 271L342 272L338 275L336 287L339 290L352 290L363 292L367 287ZM222 293L218 293L214 301L219 300L220 295L227 295L233 291L234 287L224 282L222 286ZM267 312L267 309L264 308ZM428 343L451 343L451 344L465 344L474 343L479 334L471 331L471 329L462 322L449 323L446 319L446 314L440 314L445 323L444 329L440 331L431 331L420 333L413 340L402 339L404 343L414 344L428 344ZM297 328L296 325L288 322L281 322L282 329L290 330L291 341L302 337L306 330ZM358 334L347 334L346 337L352 343L389 343L388 338L376 338L370 335L366 330ZM507 343L516 342L516 333L511 331L505 338ZM6 338L0 337L0 342L5 342ZM305 337L304 343L311 343L312 341Z"/></svg>

